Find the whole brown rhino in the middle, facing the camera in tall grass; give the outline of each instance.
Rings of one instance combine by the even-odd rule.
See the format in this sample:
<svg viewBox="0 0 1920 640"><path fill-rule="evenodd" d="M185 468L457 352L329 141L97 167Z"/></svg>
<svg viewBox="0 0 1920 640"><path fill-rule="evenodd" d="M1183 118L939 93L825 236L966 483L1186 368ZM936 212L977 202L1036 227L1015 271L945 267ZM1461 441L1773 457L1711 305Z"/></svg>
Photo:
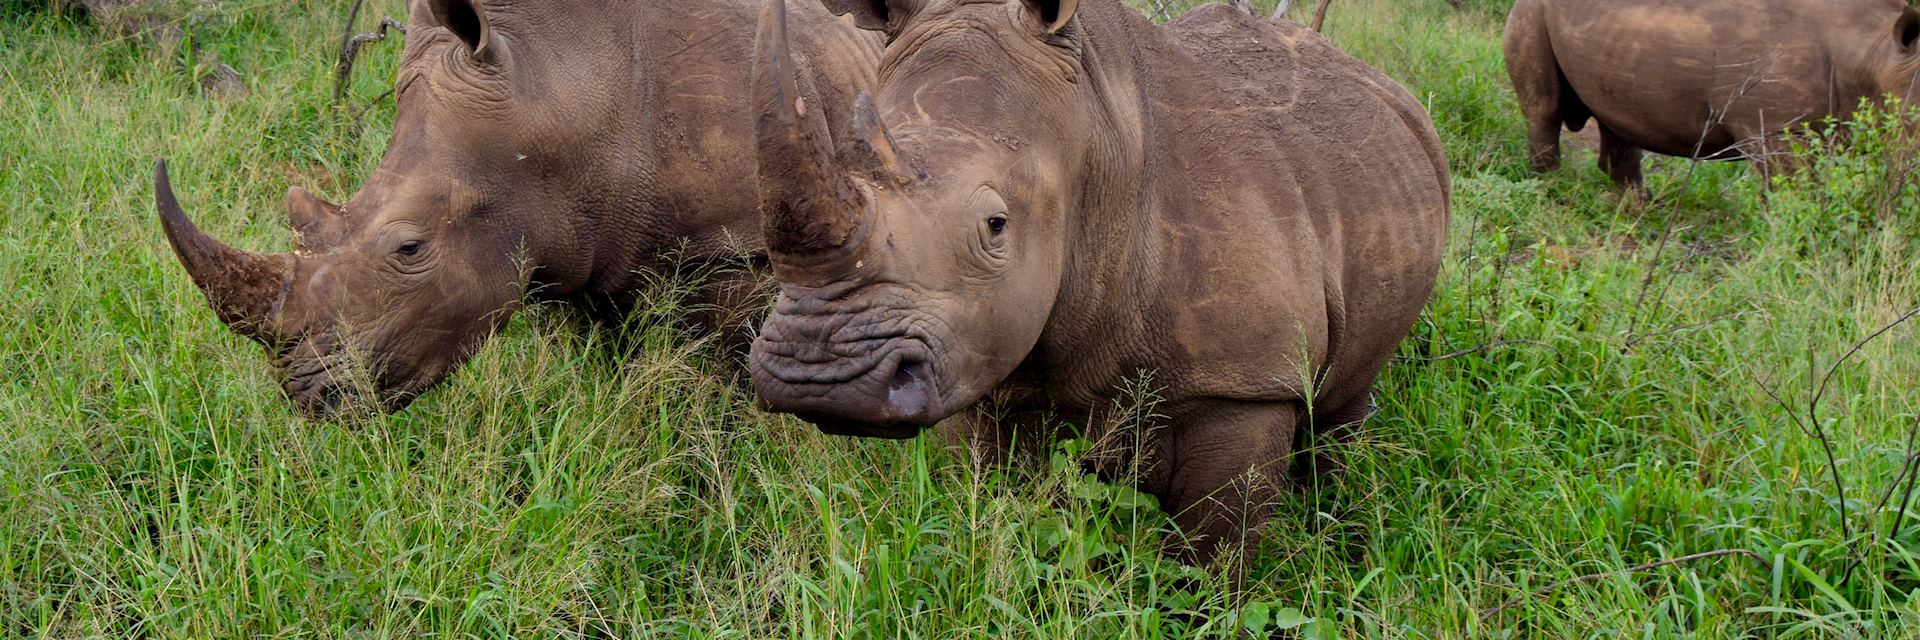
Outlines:
<svg viewBox="0 0 1920 640"><path fill-rule="evenodd" d="M760 17L766 406L883 438L1100 425L1144 373L1160 402L1119 440L1196 561L1254 534L1298 436L1371 413L1450 217L1394 81L1223 4L1154 27L1119 0L820 2L889 46L829 146L785 2Z"/></svg>

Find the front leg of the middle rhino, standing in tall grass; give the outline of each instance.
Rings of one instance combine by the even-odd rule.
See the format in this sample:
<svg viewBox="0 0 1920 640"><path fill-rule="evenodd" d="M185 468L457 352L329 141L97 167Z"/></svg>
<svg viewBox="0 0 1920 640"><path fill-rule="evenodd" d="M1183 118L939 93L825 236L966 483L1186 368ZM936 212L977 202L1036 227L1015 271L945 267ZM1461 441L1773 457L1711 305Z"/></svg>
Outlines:
<svg viewBox="0 0 1920 640"><path fill-rule="evenodd" d="M1175 550L1196 565L1227 546L1250 554L1286 479L1300 406L1213 400L1173 411L1171 419L1160 448L1164 473L1146 490L1185 534Z"/></svg>

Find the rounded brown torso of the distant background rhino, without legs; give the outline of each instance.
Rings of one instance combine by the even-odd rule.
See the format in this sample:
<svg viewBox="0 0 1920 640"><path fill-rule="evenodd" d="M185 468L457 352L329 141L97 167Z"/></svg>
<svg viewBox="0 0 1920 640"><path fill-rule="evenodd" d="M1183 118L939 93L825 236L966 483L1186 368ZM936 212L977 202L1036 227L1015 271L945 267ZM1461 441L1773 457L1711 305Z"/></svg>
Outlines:
<svg viewBox="0 0 1920 640"><path fill-rule="evenodd" d="M1889 0L1548 0L1567 83L1613 133L1668 156L1851 108L1866 86L1860 17Z"/></svg>

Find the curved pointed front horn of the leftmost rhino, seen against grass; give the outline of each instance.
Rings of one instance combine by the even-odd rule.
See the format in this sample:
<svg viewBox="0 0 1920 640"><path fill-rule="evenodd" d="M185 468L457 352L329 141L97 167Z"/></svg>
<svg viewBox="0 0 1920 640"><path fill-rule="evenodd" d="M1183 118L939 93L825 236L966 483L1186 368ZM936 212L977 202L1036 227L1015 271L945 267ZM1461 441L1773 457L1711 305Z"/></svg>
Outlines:
<svg viewBox="0 0 1920 640"><path fill-rule="evenodd" d="M167 231L167 244L173 244L173 254L180 258L194 284L207 294L207 304L221 321L242 336L273 340L267 321L286 302L294 256L248 254L194 227L173 196L165 160L154 167L154 202L159 206L159 225Z"/></svg>

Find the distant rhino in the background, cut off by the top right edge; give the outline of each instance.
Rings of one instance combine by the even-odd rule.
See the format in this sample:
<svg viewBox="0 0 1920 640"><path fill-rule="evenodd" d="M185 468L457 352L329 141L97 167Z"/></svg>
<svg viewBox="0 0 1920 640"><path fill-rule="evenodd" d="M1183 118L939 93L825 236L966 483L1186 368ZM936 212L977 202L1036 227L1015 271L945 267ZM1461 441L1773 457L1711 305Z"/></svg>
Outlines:
<svg viewBox="0 0 1920 640"><path fill-rule="evenodd" d="M1505 52L1532 167L1559 167L1561 127L1596 119L1601 169L1644 190L1644 150L1766 175L1789 127L1920 98L1916 42L1901 0L1519 0Z"/></svg>

